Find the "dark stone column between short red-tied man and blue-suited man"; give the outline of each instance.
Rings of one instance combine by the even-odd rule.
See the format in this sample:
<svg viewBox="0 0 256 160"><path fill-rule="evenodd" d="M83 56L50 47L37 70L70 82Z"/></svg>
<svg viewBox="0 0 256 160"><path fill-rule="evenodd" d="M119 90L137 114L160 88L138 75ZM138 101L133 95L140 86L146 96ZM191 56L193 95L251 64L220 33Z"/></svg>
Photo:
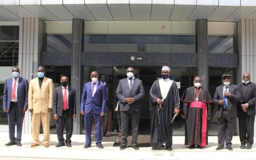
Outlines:
<svg viewBox="0 0 256 160"><path fill-rule="evenodd" d="M76 119L74 120L74 134L80 134L80 97L81 97L81 52L83 48L84 20L72 20L72 63L71 87L76 90Z"/></svg>

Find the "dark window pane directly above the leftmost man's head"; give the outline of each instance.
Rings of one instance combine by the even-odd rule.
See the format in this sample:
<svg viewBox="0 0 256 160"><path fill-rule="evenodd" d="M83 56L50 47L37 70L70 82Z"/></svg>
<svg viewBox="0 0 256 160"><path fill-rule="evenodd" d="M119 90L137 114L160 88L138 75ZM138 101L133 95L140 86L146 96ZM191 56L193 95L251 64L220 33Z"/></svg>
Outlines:
<svg viewBox="0 0 256 160"><path fill-rule="evenodd" d="M0 42L0 66L18 66L19 42Z"/></svg>

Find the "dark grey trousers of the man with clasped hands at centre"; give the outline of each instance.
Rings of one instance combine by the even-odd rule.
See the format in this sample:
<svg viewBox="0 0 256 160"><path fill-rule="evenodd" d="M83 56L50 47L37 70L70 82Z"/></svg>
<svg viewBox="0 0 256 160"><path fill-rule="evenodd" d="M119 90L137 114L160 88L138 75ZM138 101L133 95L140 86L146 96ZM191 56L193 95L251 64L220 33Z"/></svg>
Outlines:
<svg viewBox="0 0 256 160"><path fill-rule="evenodd" d="M140 112L121 111L121 134L122 134L122 145L127 145L128 127L129 127L129 116L131 116L132 124L132 145L137 144L139 123L140 123Z"/></svg>

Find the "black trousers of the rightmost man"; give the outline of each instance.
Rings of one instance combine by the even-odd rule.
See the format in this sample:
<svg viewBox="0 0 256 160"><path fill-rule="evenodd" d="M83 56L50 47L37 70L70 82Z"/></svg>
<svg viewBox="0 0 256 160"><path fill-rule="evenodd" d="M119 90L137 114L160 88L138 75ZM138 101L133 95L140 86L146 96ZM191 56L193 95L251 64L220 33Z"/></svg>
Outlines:
<svg viewBox="0 0 256 160"><path fill-rule="evenodd" d="M255 116L248 116L246 113L238 114L239 138L241 143L253 144Z"/></svg>

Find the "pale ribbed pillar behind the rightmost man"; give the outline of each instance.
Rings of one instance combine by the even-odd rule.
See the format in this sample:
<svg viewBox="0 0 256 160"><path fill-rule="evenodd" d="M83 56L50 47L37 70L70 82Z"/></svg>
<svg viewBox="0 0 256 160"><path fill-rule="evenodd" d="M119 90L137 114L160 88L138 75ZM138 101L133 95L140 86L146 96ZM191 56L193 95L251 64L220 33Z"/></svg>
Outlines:
<svg viewBox="0 0 256 160"><path fill-rule="evenodd" d="M237 84L242 83L245 72L251 74L251 81L256 83L256 20L240 20L237 23L237 44L239 53L239 68L237 70ZM238 133L238 125L236 127ZM254 137L256 125L254 122Z"/></svg>

